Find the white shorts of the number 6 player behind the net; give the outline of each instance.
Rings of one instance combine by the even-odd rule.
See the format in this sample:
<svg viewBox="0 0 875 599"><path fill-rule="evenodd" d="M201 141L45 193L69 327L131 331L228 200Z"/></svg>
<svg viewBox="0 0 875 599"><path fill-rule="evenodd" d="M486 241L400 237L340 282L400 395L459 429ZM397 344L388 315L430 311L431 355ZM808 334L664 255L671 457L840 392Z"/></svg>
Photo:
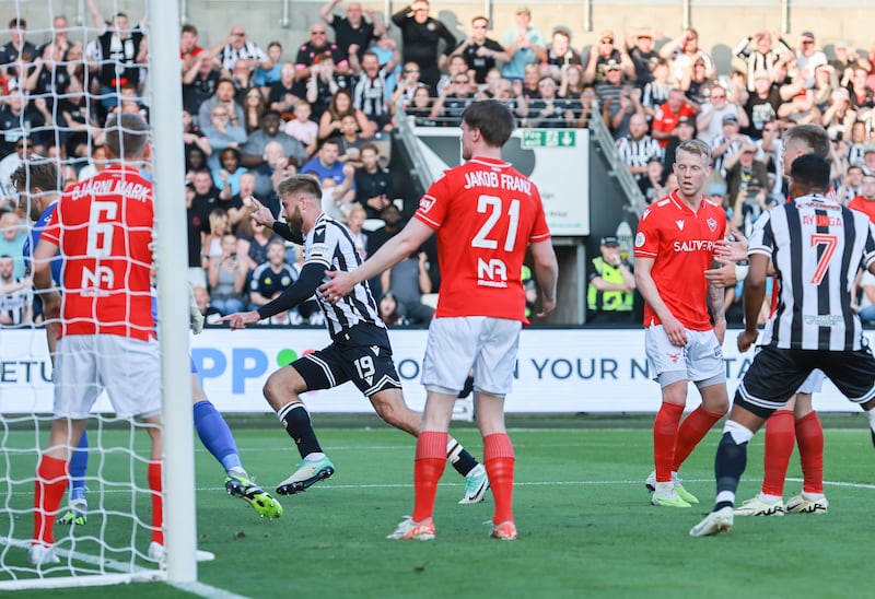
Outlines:
<svg viewBox="0 0 875 599"><path fill-rule="evenodd" d="M55 418L89 418L101 391L121 419L161 412L158 341L117 334L71 334L55 357Z"/></svg>

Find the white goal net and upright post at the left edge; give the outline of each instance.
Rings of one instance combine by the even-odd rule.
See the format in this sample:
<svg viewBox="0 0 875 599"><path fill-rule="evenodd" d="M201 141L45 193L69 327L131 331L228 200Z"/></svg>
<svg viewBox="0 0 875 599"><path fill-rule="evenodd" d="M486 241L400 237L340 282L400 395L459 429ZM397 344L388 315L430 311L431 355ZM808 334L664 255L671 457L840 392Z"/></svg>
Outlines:
<svg viewBox="0 0 875 599"><path fill-rule="evenodd" d="M0 95L5 104L0 124L4 129L0 137L0 201L5 212L0 220L4 230L0 239L4 244L0 246L0 590L132 580L195 582L188 291L186 265L178 258L186 254L185 209L179 201L184 181L182 98L179 78L166 74L179 72L177 2L14 0L3 3L0 15L0 45L5 44L0 49ZM165 75L154 74L162 72ZM100 160L107 120L115 114L120 121L121 113L140 115L148 122L151 152L138 164ZM124 134L119 136L122 140ZM37 180L31 166L46 161L56 166L54 184ZM55 356L47 340L47 329L51 329L47 321L52 322L47 316L51 314L40 314L39 303L31 295L36 262L14 251L24 240L34 251L34 226L40 230L39 216L60 190L119 166L133 173L121 176L122 184L136 175L142 177L137 180L151 181L153 187L155 220L149 233L161 289L160 366L155 366L165 383L145 391L162 399L162 457L152 454L149 428L154 426L118 418L116 398L110 402L105 391L85 423L88 449L79 447L70 426L63 427L63 439L49 448L56 426L55 391L66 381L63 376L52 375ZM18 179L10 177L13 173ZM137 193L129 185L115 189ZM127 207L126 201L120 205ZM118 235L130 245L135 225L127 218L114 226L129 227ZM127 285L138 266L132 254L120 271L125 284L114 285L109 282L114 273L101 266L108 263L101 259L110 251L112 231L107 232L93 211L82 226L88 227L84 255L94 258L98 267L90 277L83 274L77 294L68 293L65 301L86 295L85 279L97 295L110 294L105 291L107 285L112 293L140 293ZM46 238L49 236L47 232ZM61 269L55 275L61 293L63 282L69 281L65 273ZM119 286L122 289L116 289ZM128 306L129 314L121 319L96 309L92 317L100 322L108 318L129 329L151 322L136 302ZM101 363L97 372L117 365L116 373L125 373L138 360L125 345L83 353L91 351ZM105 387L104 378L95 375L84 387ZM130 380L135 384L137 379ZM174 380L185 384L166 383ZM75 395L80 387L74 392L68 387L68 392ZM144 395L143 389L128 387L131 392L122 395ZM124 387L116 383L118 388ZM65 495L57 508L51 508L49 496L58 481L63 482ZM163 518L153 513L163 513ZM156 543L161 551L153 547Z"/></svg>

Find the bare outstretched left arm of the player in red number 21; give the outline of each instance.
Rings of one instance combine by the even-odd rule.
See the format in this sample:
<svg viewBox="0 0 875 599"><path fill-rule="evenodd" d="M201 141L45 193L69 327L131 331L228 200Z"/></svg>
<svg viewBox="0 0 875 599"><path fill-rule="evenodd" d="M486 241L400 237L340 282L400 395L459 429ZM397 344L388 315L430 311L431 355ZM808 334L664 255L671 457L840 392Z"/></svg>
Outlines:
<svg viewBox="0 0 875 599"><path fill-rule="evenodd" d="M330 281L323 283L319 286L319 291L331 303L346 297L352 293L352 289L358 283L373 279L410 256L432 233L434 233L434 230L430 226L417 219L411 219L400 233L383 244L359 268L349 272L327 271L325 274L328 275Z"/></svg>

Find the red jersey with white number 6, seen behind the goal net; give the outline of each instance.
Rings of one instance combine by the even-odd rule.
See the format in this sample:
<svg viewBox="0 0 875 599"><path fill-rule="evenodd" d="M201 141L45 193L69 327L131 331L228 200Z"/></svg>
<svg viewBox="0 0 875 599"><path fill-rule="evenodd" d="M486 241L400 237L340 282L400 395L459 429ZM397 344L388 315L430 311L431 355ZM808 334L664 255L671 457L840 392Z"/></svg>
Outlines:
<svg viewBox="0 0 875 599"><path fill-rule="evenodd" d="M112 166L65 191L43 238L63 256L60 334L154 338L152 184Z"/></svg>

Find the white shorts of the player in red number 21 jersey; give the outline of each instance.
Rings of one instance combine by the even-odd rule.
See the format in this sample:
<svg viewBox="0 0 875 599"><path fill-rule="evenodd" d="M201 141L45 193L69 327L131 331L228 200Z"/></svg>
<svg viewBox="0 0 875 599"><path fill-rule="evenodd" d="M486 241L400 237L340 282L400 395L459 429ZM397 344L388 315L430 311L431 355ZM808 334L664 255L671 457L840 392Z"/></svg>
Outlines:
<svg viewBox="0 0 875 599"><path fill-rule="evenodd" d="M474 388L498 397L511 392L523 324L506 318L433 318L422 362L422 385L458 395L474 368Z"/></svg>

